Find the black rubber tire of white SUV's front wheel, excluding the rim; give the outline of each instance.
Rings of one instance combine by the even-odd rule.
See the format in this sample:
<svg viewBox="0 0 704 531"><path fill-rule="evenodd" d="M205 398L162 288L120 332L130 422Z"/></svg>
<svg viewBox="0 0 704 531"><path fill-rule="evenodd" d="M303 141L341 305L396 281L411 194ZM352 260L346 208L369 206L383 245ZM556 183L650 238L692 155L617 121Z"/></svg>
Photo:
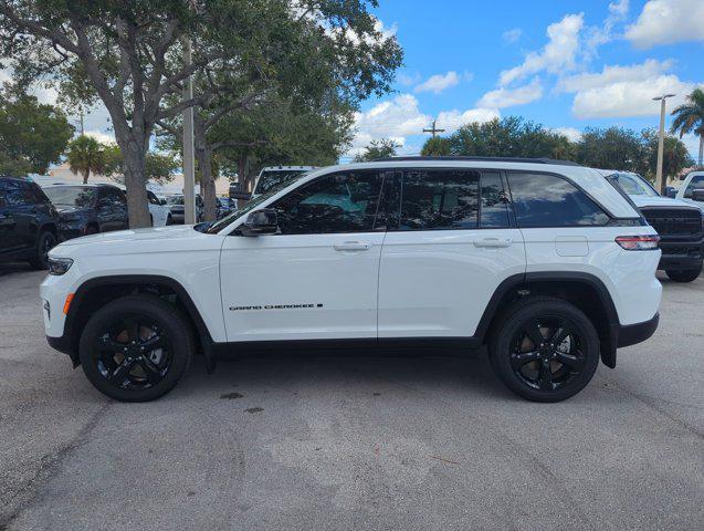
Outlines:
<svg viewBox="0 0 704 531"><path fill-rule="evenodd" d="M111 384L97 369L95 343L119 315L139 314L154 319L171 345L171 365L165 377L147 389L123 389ZM81 366L88 381L104 395L120 402L148 402L171 391L186 373L192 357L192 337L177 309L154 295L129 295L98 310L86 323L78 343Z"/></svg>

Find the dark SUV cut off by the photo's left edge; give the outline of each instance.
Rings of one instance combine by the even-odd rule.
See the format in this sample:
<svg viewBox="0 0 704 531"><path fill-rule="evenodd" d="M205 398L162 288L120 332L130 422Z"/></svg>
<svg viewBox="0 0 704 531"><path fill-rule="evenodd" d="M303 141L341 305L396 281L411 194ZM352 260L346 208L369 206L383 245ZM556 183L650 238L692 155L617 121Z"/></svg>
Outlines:
<svg viewBox="0 0 704 531"><path fill-rule="evenodd" d="M27 260L46 269L59 239L59 215L34 183L0 177L0 260Z"/></svg>

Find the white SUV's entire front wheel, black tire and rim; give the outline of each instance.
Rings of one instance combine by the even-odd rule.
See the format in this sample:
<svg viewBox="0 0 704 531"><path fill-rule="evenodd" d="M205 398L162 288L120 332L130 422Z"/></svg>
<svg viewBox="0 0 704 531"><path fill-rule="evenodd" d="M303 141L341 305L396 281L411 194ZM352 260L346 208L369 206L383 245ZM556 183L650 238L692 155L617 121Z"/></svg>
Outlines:
<svg viewBox="0 0 704 531"><path fill-rule="evenodd" d="M153 333L154 335L149 335ZM101 308L81 334L88 381L119 402L148 402L179 383L196 346L183 314L156 295L128 295Z"/></svg>

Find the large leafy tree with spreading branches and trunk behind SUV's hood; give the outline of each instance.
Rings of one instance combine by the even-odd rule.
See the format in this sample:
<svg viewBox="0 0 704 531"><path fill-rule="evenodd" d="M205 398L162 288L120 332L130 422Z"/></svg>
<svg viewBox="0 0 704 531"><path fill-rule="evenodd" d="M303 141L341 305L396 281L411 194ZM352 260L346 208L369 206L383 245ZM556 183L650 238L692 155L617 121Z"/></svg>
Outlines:
<svg viewBox="0 0 704 531"><path fill-rule="evenodd" d="M186 108L208 106L216 97L207 91L164 105L165 96L181 92L193 74L238 75L266 66L262 53L295 48L304 24L329 35L326 51L356 41L380 66L362 73L347 70L350 63L345 60L356 52L339 46L340 72L356 86L388 90L395 67L385 61L400 62L400 51L395 39L383 38L368 4L376 1L0 0L0 43L2 54L11 56L15 72L27 79L49 73L60 83L83 82L87 90L75 92L94 93L104 103L124 156L130 227L147 227L146 154L156 124ZM281 21L283 14L291 23L267 23ZM382 44L375 45L380 40ZM186 41L193 43L190 64L182 61ZM265 79L270 71L262 74Z"/></svg>

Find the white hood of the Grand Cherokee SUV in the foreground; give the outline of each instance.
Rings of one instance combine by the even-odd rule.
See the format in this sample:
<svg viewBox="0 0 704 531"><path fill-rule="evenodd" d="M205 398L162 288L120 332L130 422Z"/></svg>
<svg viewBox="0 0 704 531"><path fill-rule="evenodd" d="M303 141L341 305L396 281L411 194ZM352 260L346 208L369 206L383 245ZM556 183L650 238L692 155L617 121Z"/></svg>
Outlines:
<svg viewBox="0 0 704 531"><path fill-rule="evenodd" d="M50 251L52 257L146 254L219 249L222 237L204 235L190 225L117 230L64 241Z"/></svg>

